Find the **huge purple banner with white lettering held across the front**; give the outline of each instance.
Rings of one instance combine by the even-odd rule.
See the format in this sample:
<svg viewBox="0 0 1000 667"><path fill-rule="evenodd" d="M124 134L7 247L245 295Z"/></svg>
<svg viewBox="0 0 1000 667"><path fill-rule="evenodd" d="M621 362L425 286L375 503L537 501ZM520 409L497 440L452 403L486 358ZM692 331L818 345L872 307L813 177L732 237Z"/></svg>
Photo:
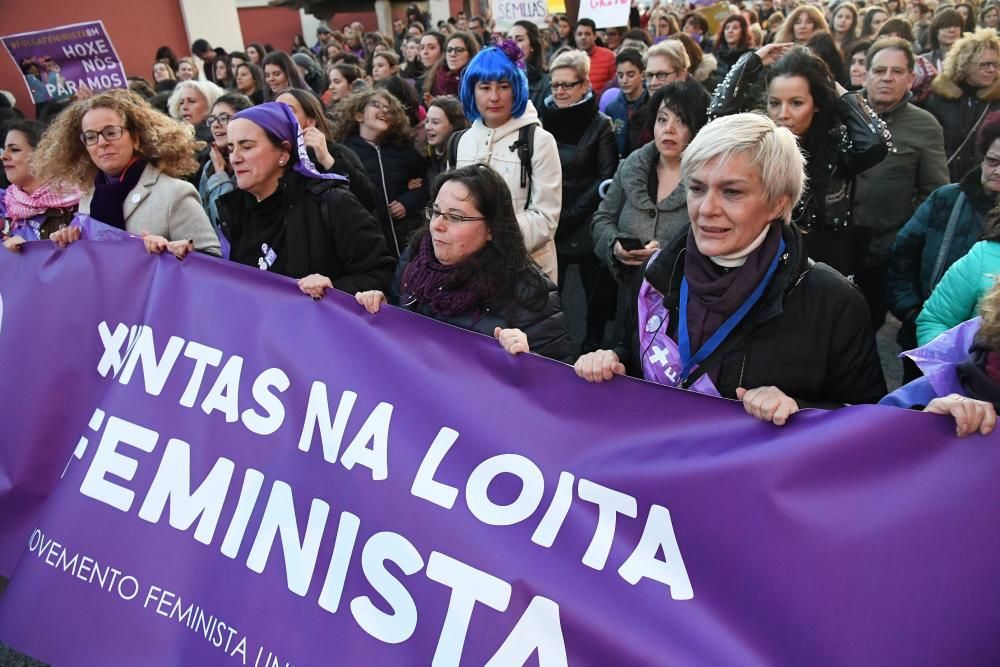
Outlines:
<svg viewBox="0 0 1000 667"><path fill-rule="evenodd" d="M755 421L135 240L0 253L0 640L55 665L996 664L997 437Z"/></svg>

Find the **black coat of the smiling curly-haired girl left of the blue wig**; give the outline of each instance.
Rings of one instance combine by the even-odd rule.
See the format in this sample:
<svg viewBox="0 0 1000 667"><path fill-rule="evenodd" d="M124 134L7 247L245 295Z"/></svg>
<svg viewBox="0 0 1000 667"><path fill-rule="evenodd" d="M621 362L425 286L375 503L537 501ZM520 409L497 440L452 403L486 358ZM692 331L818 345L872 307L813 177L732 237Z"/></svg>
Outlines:
<svg viewBox="0 0 1000 667"><path fill-rule="evenodd" d="M361 159L368 178L375 186L375 215L381 223L389 251L398 257L409 243L410 236L424 222L424 207L430 199L424 158L412 145L383 144L376 148L358 134L349 136L344 145ZM407 184L415 178L423 179L423 185L410 190ZM406 208L406 217L402 220L389 215L389 204L393 201Z"/></svg>

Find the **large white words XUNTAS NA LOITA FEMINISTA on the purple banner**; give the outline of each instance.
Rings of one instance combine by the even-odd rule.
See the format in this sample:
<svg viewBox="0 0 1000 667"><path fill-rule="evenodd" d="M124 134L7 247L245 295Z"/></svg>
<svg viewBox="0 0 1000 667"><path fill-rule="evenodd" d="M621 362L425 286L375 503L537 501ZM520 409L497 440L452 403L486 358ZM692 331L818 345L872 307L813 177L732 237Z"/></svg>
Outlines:
<svg viewBox="0 0 1000 667"><path fill-rule="evenodd" d="M377 404L357 432L349 433L347 425L359 398L357 393L349 388L335 390L316 380L309 390L304 421L289 425L286 424L289 406L283 402L283 395L292 380L280 368L244 377L242 357L178 336L170 336L163 343L166 336L155 336L147 325L119 323L112 327L101 322L98 334L103 353L97 372L102 377L116 379L122 385L141 383L151 396L177 401L206 415L221 413L227 422L238 422L257 435L268 436L283 428L295 428L299 452L309 453L316 448L328 464L348 470L366 469L373 482L389 478L389 426L394 410L390 403ZM186 379L183 392L178 396L165 395L168 379L176 375L181 376L181 383ZM252 396L253 404L241 405L241 394ZM274 480L270 490L264 492L265 475L261 471L247 468L238 472L234 461L220 457L197 488L192 488L189 443L167 434L161 437L157 431L101 410L95 412L90 429L100 433L100 440L83 475L82 494L122 512L135 512L150 523L167 521L180 531L195 526L193 538L202 544L216 544L216 537L221 534L218 548L229 558L237 558L241 545L250 538L252 546L246 567L257 573L264 571L276 540L280 541L288 590L304 597L314 578L322 577L316 604L330 613L340 609L351 554L361 527L357 515L344 511L332 519L329 504L313 498L300 542L297 526L301 522L296 517L292 488L286 482ZM412 480L412 496L446 510L455 507L460 489L439 481L435 475L459 437L456 430L447 426L438 430ZM137 456L138 452L130 453L129 448L147 453L160 450L162 456L154 464L148 457ZM140 465L158 465L149 488L141 490L123 483L135 478ZM516 499L504 505L494 503L487 495L490 483L500 475L513 475L519 486ZM534 462L519 454L499 454L473 469L465 481L464 498L468 510L483 524L511 526L535 513L544 492L545 479ZM267 497L262 499L264 493ZM231 496L237 499L236 509L223 520L223 506ZM607 564L616 538L615 516L638 514L637 501L632 496L586 479L575 480L571 473L563 471L531 541L542 548L552 547L571 506L578 500L592 503L599 510L593 537L581 555L581 562L600 571ZM259 502L264 503L262 519L256 534L250 536L247 532L251 514ZM330 562L317 570L320 542L330 523L336 523L333 552ZM383 531L372 535L361 553L366 579L392 607L393 613L381 611L365 596L350 601L350 612L362 630L380 641L390 644L405 641L414 632L418 617L413 597L386 570L385 561L395 563L406 575L426 567L428 579L452 589L439 638L439 653L454 652L457 644L460 655L474 606L470 600L498 611L504 611L510 603L509 582L438 551L432 551L425 562L413 544L399 533ZM664 586L664 594L674 600L694 596L667 508L650 506L638 543L618 568L617 575L633 585L642 579L659 582ZM540 595L530 601L490 664L522 664L536 650L542 664L566 663L558 602Z"/></svg>

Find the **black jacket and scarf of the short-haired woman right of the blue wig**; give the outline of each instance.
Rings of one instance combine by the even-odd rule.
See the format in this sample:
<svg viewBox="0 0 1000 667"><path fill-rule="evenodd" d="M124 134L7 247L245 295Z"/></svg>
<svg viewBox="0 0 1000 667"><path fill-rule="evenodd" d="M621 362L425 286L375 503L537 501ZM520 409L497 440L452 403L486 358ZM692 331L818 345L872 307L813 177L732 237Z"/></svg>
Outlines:
<svg viewBox="0 0 1000 667"><path fill-rule="evenodd" d="M563 170L562 211L556 229L561 255L590 255L590 221L601 204L598 186L618 168L618 144L611 119L597 110L593 95L567 109L549 99L541 110L542 127L552 133Z"/></svg>

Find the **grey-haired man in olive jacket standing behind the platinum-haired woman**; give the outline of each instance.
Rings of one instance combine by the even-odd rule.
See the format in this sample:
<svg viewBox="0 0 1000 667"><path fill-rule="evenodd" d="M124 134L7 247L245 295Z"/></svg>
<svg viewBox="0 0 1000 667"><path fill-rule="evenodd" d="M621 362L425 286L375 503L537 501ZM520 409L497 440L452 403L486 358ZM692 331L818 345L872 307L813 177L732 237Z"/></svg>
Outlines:
<svg viewBox="0 0 1000 667"><path fill-rule="evenodd" d="M941 125L910 103L913 64L910 43L897 37L880 39L868 50L864 95L892 133L885 159L855 179L851 202L855 223L872 230L858 286L876 330L885 322L889 248L896 232L949 180Z"/></svg>

